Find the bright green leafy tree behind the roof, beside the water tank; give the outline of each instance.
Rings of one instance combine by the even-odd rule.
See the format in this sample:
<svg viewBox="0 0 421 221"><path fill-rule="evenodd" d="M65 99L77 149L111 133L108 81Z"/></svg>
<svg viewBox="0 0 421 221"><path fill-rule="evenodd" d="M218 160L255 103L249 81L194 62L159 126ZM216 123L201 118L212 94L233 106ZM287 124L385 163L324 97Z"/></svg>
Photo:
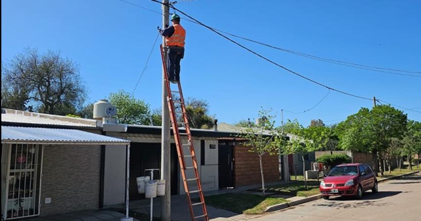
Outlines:
<svg viewBox="0 0 421 221"><path fill-rule="evenodd" d="M149 105L130 93L119 90L110 93L110 103L117 107L117 119L122 124L149 125Z"/></svg>

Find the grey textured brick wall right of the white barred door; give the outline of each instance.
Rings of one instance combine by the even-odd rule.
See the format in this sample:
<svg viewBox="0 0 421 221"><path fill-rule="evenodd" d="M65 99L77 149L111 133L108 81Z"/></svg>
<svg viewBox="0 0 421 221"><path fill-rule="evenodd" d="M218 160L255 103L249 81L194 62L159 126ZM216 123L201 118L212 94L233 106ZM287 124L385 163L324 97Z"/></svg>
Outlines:
<svg viewBox="0 0 421 221"><path fill-rule="evenodd" d="M44 148L41 216L98 209L100 155L98 145Z"/></svg>

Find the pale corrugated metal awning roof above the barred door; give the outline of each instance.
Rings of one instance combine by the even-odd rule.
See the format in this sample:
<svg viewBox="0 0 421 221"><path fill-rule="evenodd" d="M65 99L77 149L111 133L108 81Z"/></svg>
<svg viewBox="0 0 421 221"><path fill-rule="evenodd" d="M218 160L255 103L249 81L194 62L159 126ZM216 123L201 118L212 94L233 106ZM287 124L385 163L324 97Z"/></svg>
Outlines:
<svg viewBox="0 0 421 221"><path fill-rule="evenodd" d="M28 128L1 126L1 143L40 144L129 144L129 140L118 139L96 133L73 129Z"/></svg>

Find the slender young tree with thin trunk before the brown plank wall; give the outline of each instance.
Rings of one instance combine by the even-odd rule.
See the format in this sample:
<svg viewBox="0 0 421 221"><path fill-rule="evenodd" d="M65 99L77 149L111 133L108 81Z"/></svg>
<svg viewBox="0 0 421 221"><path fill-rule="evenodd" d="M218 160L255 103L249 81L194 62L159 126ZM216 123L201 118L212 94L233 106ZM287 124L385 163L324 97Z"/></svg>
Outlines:
<svg viewBox="0 0 421 221"><path fill-rule="evenodd" d="M275 116L271 115L271 111L272 110L260 110L258 113L258 116L261 119L260 125L257 127L245 127L238 135L246 140L245 142L242 142L242 145L249 148L249 152L259 156L263 195L265 195L265 181L262 157L267 154L278 155L280 147L277 139L275 139L275 137L278 136L278 133L274 127L275 121L273 119Z"/></svg>

